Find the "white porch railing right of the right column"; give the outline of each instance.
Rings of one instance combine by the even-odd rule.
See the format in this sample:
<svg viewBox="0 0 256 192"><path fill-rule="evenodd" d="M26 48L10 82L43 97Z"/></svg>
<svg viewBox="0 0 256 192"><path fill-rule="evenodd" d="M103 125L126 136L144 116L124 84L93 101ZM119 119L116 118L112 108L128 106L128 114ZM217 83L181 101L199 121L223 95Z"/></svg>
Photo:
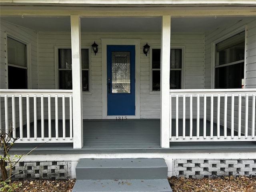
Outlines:
<svg viewBox="0 0 256 192"><path fill-rule="evenodd" d="M256 89L170 90L170 142L255 141Z"/></svg>

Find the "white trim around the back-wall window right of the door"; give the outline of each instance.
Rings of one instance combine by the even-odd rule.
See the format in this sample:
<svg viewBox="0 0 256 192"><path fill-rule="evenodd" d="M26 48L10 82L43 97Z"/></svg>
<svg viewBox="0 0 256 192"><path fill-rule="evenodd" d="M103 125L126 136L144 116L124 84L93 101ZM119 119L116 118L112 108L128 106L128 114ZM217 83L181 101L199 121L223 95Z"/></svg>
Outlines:
<svg viewBox="0 0 256 192"><path fill-rule="evenodd" d="M161 49L161 47L150 47L150 53L152 53L152 49ZM184 60L185 60L185 46L171 46L171 49L181 49L182 50L182 62L181 62L181 88L184 88ZM153 91L152 90L152 54L149 54L149 93L150 94L160 94L160 91ZM177 70L177 69L172 69Z"/></svg>

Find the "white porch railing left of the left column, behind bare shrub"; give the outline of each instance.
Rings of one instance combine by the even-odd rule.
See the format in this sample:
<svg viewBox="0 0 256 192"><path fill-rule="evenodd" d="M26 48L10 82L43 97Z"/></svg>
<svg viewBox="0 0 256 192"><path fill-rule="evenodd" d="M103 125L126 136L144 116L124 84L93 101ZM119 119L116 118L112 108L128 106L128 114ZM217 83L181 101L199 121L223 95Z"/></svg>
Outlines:
<svg viewBox="0 0 256 192"><path fill-rule="evenodd" d="M1 130L16 142L73 142L72 90L0 90Z"/></svg>

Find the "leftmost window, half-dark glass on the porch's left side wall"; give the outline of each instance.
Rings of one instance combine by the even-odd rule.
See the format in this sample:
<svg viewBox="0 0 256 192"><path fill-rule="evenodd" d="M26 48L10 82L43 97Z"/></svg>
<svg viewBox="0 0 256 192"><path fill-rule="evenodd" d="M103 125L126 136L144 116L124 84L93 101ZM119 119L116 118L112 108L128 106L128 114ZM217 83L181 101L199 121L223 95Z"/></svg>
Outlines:
<svg viewBox="0 0 256 192"><path fill-rule="evenodd" d="M28 88L27 46L7 37L8 46L8 88Z"/></svg>

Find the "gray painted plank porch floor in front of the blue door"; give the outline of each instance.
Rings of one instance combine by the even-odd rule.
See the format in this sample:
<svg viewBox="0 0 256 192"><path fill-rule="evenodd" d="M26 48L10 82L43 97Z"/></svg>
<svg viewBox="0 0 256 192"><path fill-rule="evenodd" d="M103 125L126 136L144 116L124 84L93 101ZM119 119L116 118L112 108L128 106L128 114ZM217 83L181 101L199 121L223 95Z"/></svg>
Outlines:
<svg viewBox="0 0 256 192"><path fill-rule="evenodd" d="M68 122L66 123L68 125ZM118 152L203 152L203 151L252 151L256 142L170 142L170 148L160 147L160 120L84 120L84 146L73 149L72 143L30 143L14 144L12 153L28 152L38 146L32 153L118 153ZM172 121L175 134L175 119ZM38 124L40 126L40 124ZM45 124L48 126L48 124ZM182 126L182 120L179 122ZM200 132L203 128L200 120ZM54 121L52 121L54 127ZM207 122L207 129L210 129ZM40 127L38 127L40 129ZM33 130L33 126L31 127ZM45 128L47 130L47 128ZM181 129L182 130L182 129ZM193 120L193 135L196 134L196 120ZM61 132L61 128L59 128ZM223 129L221 130L223 132ZM186 122L186 135L189 133L189 120ZM33 134L33 133L31 133ZM48 133L46 133L47 135ZM222 134L222 133L221 133ZM228 132L228 135L230 132ZM235 133L236 134L236 133ZM180 132L179 135L182 135ZM214 125L216 135L216 125ZM203 143L203 144L202 144Z"/></svg>

